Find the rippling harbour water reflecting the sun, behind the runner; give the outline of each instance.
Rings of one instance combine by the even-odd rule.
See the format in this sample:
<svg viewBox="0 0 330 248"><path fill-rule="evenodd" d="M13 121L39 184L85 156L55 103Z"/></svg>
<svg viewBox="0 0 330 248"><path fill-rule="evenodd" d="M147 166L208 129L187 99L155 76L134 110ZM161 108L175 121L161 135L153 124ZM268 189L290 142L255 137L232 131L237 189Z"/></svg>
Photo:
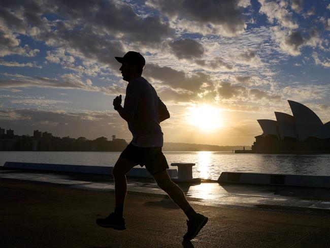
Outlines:
<svg viewBox="0 0 330 248"><path fill-rule="evenodd" d="M120 152L0 151L6 161L113 166ZM171 163L195 163L193 177L218 179L222 171L330 175L330 154L235 154L219 151L164 151ZM138 166L140 167L140 166ZM172 167L176 168L176 167Z"/></svg>

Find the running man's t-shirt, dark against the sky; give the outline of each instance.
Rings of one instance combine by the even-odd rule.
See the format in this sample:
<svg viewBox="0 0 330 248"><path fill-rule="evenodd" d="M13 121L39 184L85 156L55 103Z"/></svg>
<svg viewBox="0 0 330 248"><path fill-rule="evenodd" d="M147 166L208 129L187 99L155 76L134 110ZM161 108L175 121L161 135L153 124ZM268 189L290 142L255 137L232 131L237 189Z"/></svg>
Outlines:
<svg viewBox="0 0 330 248"><path fill-rule="evenodd" d="M124 109L134 113L134 119L127 121L133 135L131 143L140 147L163 146L163 133L158 113L168 112L157 96L156 90L143 77L130 81L126 88Z"/></svg>

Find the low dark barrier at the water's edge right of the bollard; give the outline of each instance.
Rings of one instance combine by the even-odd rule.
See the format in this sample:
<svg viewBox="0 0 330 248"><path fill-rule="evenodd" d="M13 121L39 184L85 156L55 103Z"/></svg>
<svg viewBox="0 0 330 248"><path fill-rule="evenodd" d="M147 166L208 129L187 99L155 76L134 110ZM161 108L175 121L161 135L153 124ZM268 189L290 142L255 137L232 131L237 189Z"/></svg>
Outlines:
<svg viewBox="0 0 330 248"><path fill-rule="evenodd" d="M230 182L330 188L330 176L222 172L217 181L220 184Z"/></svg>

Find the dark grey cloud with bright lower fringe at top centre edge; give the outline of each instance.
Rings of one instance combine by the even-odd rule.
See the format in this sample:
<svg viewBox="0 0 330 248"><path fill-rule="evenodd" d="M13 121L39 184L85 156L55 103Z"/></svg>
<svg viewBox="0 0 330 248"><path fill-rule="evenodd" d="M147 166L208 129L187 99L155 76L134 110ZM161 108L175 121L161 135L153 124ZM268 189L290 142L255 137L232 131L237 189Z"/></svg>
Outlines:
<svg viewBox="0 0 330 248"><path fill-rule="evenodd" d="M146 5L192 33L235 36L246 28L241 9L248 6L247 1L148 0Z"/></svg>

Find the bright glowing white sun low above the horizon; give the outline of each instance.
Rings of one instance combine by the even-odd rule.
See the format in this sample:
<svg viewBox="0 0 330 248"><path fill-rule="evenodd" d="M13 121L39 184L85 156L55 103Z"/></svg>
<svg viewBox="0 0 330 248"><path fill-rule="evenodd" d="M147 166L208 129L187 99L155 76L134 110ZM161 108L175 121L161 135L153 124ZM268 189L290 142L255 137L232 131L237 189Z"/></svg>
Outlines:
<svg viewBox="0 0 330 248"><path fill-rule="evenodd" d="M188 108L186 121L204 132L212 132L223 126L221 110L209 105Z"/></svg>

